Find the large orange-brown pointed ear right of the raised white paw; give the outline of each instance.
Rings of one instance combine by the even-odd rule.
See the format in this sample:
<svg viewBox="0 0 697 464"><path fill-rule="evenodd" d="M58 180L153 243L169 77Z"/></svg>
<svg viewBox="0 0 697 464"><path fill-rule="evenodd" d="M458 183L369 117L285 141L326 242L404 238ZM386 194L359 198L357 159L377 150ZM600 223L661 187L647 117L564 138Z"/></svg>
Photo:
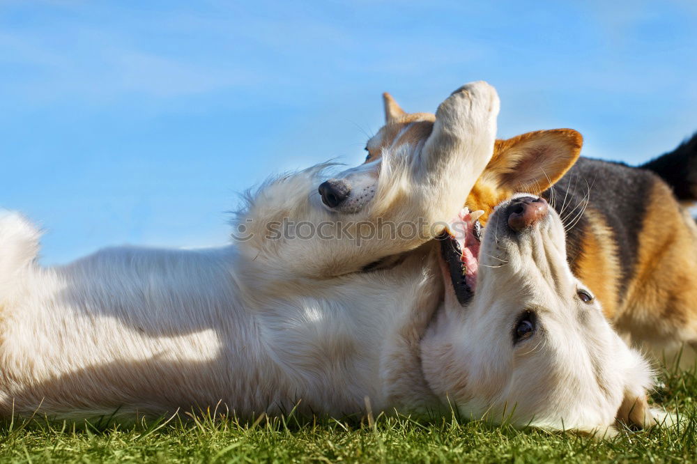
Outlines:
<svg viewBox="0 0 697 464"><path fill-rule="evenodd" d="M485 174L501 190L541 194L574 165L583 137L572 129L538 130L497 140Z"/></svg>

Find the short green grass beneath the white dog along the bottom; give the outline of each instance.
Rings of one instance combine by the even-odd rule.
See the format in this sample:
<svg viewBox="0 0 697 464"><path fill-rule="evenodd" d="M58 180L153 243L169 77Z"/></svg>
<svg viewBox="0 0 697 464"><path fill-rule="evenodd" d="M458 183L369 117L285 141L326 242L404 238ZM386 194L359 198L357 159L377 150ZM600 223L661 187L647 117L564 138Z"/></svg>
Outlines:
<svg viewBox="0 0 697 464"><path fill-rule="evenodd" d="M597 441L573 433L517 431L454 417L416 422L241 423L181 417L123 428L33 419L0 427L1 462L694 462L697 376L664 372L654 403L677 411L679 428L624 431Z"/></svg>

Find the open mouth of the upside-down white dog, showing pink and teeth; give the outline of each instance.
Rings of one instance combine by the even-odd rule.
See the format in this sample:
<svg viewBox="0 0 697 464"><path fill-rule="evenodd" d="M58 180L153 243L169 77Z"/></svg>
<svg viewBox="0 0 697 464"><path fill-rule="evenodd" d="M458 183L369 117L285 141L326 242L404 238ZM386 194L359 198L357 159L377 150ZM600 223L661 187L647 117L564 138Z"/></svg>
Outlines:
<svg viewBox="0 0 697 464"><path fill-rule="evenodd" d="M483 214L482 210L470 212L468 208L462 209L438 237L438 240L441 240L441 254L450 272L455 296L463 306L475 294L482 240L482 224L479 218Z"/></svg>

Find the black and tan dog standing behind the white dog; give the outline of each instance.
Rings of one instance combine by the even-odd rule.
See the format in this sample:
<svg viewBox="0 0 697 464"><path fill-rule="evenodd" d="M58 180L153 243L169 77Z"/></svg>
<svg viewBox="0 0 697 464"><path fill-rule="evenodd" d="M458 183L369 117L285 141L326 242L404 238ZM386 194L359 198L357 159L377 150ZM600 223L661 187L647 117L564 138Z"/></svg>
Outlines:
<svg viewBox="0 0 697 464"><path fill-rule="evenodd" d="M367 143L367 162L385 148L418 143L434 116L404 112L383 95L385 126ZM697 199L697 134L641 167L579 157L571 129L497 140L466 206L483 210L517 192L541 195L567 229L572 272L602 303L620 334L659 360L683 366L697 349L697 227L680 202ZM675 194L674 194L675 192Z"/></svg>

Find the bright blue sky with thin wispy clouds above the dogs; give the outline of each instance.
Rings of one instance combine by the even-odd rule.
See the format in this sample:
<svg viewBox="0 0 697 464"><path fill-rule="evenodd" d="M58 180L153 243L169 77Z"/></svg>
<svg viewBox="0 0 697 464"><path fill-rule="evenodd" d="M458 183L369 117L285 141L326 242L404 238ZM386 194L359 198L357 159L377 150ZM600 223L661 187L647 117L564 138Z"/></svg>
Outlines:
<svg viewBox="0 0 697 464"><path fill-rule="evenodd" d="M499 136L572 127L641 162L697 130L697 3L0 0L0 207L43 263L227 242L237 192L362 161L380 95L484 79Z"/></svg>

